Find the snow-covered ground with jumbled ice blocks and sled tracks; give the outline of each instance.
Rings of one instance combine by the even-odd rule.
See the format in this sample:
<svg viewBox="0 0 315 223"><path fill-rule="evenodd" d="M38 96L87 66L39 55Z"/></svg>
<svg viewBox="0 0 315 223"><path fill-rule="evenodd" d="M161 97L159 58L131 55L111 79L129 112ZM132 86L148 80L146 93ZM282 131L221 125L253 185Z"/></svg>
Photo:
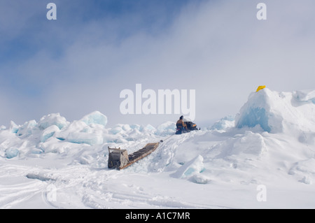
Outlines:
<svg viewBox="0 0 315 223"><path fill-rule="evenodd" d="M315 208L315 91L265 88L182 135L174 122L106 123L96 111L0 126L0 208ZM108 147L160 140L136 164L107 168Z"/></svg>

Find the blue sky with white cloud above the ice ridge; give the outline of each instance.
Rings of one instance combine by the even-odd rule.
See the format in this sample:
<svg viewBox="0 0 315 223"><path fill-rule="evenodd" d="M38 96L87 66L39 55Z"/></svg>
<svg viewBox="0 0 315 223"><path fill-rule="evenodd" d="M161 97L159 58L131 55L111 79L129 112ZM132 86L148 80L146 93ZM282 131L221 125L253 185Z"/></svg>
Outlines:
<svg viewBox="0 0 315 223"><path fill-rule="evenodd" d="M46 17L50 2L57 20ZM256 17L260 2L267 20ZM120 92L136 94L137 84L156 94L195 90L200 127L238 113L259 85L314 89L314 8L312 0L1 0L0 126L94 110L109 127L178 120L123 115Z"/></svg>

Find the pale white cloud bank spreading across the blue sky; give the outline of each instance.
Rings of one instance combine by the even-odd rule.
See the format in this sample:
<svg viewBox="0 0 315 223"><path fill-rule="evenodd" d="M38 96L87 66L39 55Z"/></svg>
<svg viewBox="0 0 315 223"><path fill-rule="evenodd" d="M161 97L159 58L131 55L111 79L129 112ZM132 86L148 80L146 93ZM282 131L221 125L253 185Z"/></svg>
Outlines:
<svg viewBox="0 0 315 223"><path fill-rule="evenodd" d="M18 104L12 116L1 115L0 123L56 112L78 119L92 110L109 117L109 125L178 118L122 115L120 92L134 90L137 83L155 91L195 89L195 122L204 123L237 113L258 85L277 91L314 87L315 3L264 2L265 21L256 19L253 1L192 1L164 29L136 26L150 12L130 17L133 29L125 35L125 17L104 17L69 30L58 21L53 33L63 44L60 55L42 48L21 64L1 68L1 73L23 73L27 84L39 86L40 95L23 102L13 93L18 89L0 90L6 101ZM8 113L10 104L6 107Z"/></svg>

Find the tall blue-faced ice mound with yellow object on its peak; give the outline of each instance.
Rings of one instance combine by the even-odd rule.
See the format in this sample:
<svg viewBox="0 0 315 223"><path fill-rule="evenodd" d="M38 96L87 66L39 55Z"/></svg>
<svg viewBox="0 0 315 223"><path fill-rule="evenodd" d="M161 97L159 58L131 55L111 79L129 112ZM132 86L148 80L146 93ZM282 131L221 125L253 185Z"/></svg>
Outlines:
<svg viewBox="0 0 315 223"><path fill-rule="evenodd" d="M315 130L314 91L273 92L267 88L249 95L235 117L235 127L260 127L270 133Z"/></svg>

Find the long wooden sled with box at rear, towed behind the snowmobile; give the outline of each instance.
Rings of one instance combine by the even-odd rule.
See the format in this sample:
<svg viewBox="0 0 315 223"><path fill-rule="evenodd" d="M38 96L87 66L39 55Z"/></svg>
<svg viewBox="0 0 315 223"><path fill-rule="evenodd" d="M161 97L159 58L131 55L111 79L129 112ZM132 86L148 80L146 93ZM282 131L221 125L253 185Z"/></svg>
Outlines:
<svg viewBox="0 0 315 223"><path fill-rule="evenodd" d="M151 154L159 143L148 143L144 148L128 155L127 150L120 150L120 148L109 148L109 168L118 168L119 170L134 164Z"/></svg>

